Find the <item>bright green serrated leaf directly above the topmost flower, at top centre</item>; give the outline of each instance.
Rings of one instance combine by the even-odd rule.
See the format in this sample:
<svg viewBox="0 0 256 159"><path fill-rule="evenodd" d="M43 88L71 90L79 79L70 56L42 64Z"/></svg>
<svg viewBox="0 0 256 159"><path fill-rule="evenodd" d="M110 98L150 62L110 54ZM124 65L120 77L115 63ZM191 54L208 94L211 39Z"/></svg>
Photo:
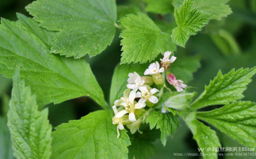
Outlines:
<svg viewBox="0 0 256 159"><path fill-rule="evenodd" d="M146 63L154 60L159 53L176 50L171 35L162 32L146 14L129 14L120 22L125 28L120 34L123 38L121 64Z"/></svg>

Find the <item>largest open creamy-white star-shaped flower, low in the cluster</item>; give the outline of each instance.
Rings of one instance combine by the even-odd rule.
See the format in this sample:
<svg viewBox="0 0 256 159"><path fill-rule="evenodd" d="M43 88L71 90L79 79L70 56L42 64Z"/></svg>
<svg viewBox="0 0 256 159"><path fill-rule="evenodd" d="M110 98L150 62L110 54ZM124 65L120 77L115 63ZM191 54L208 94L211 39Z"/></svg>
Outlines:
<svg viewBox="0 0 256 159"><path fill-rule="evenodd" d="M125 114L129 113L129 120L134 122L134 121L136 121L134 111L136 109L141 109L141 108L145 107L146 104L145 104L145 101L141 100L141 99L138 101L138 103L134 102L134 99L136 97L136 91L135 90L130 91L128 98L127 98L127 92L128 91L124 92L124 97L121 97L123 102L120 104L120 105L124 106L125 109L118 112L115 115L115 117L120 118L120 117L124 116Z"/></svg>

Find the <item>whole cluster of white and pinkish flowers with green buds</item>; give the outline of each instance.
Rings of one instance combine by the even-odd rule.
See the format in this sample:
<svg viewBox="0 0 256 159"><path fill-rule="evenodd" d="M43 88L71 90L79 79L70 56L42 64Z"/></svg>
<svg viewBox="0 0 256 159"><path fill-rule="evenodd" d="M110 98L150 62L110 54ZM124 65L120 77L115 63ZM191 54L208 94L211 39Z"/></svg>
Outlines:
<svg viewBox="0 0 256 159"><path fill-rule="evenodd" d="M112 119L113 124L118 125L117 138L120 135L119 129L123 130L124 125L130 129L132 134L136 131L142 133L139 127L147 117L148 112L158 102L158 98L161 97L163 88L166 87L165 78L177 91L183 91L182 88L187 86L183 84L183 81L176 80L174 74L168 73L165 77L165 71L169 70L170 63L176 60L175 56L170 58L170 55L171 52L167 51L164 57L160 59L161 68L157 61L148 66L144 75L151 76L140 76L137 72L128 74L127 89L124 91L123 97L116 100L112 106L115 114ZM151 86L161 88L161 91Z"/></svg>

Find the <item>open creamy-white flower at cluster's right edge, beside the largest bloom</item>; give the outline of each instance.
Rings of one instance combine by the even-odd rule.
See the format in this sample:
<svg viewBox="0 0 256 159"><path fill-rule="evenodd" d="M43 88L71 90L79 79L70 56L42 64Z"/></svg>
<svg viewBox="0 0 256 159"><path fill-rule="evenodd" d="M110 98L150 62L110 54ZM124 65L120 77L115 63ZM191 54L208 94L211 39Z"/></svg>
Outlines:
<svg viewBox="0 0 256 159"><path fill-rule="evenodd" d="M139 90L141 92L136 93L136 98L141 98L140 100L142 102L146 102L146 100L148 100L154 104L156 104L158 102L158 98L153 95L154 93L159 92L158 89L153 88L150 91L148 91L147 87L141 86L141 87L139 87Z"/></svg>

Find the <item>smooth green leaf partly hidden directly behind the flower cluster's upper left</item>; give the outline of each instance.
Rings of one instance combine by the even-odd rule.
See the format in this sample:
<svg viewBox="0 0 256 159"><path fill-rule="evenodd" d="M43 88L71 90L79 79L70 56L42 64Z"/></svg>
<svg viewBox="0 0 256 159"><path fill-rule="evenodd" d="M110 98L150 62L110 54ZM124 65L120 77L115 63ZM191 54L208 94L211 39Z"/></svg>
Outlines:
<svg viewBox="0 0 256 159"><path fill-rule="evenodd" d="M127 89L128 73L137 72L139 75L143 75L148 65L146 64L117 64L112 77L110 88L110 105L113 105L114 101L120 99L123 96L123 92Z"/></svg>

